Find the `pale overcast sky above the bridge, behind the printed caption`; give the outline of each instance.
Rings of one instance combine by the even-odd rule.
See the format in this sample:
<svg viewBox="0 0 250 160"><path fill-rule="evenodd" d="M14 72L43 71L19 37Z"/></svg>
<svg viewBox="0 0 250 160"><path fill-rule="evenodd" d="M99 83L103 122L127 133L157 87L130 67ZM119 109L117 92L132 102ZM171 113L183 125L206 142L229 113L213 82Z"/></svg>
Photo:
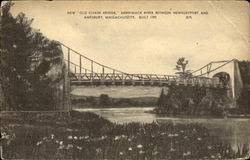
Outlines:
<svg viewBox="0 0 250 160"><path fill-rule="evenodd" d="M70 10L208 11L208 15L86 20L83 15L67 14ZM11 12L14 16L24 12L48 38L127 73L173 74L179 57L186 57L193 70L213 60L250 60L247 2L26 1L15 2Z"/></svg>

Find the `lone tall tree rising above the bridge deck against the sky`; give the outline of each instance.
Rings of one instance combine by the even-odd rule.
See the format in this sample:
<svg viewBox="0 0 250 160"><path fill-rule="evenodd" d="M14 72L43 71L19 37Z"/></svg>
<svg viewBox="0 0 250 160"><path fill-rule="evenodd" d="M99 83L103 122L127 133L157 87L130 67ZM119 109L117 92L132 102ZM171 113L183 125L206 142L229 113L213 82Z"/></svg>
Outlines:
<svg viewBox="0 0 250 160"><path fill-rule="evenodd" d="M188 64L188 60L185 60L184 57L179 58L175 66L175 70L178 70L179 72L176 72L175 74L179 74L180 77L182 78L192 76L192 74L190 73L191 70L186 70L187 64Z"/></svg>

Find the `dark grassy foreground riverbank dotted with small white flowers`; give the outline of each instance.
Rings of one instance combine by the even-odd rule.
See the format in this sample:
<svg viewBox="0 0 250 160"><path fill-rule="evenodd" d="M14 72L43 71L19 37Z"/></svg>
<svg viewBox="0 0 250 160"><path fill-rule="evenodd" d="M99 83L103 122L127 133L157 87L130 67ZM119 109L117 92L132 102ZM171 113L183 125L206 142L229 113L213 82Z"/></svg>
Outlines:
<svg viewBox="0 0 250 160"><path fill-rule="evenodd" d="M8 159L234 159L199 124L114 124L89 112L1 114Z"/></svg>

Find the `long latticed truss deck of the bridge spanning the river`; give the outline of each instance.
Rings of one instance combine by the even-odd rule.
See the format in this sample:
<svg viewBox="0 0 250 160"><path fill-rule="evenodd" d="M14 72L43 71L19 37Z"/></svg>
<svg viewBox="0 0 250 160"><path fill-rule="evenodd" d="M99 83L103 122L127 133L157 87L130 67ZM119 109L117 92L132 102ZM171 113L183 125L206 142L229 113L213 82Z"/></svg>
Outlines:
<svg viewBox="0 0 250 160"><path fill-rule="evenodd" d="M207 88L227 88L217 79L205 77L180 78L157 74L114 74L82 73L71 77L71 85L125 85L125 86L199 86Z"/></svg>

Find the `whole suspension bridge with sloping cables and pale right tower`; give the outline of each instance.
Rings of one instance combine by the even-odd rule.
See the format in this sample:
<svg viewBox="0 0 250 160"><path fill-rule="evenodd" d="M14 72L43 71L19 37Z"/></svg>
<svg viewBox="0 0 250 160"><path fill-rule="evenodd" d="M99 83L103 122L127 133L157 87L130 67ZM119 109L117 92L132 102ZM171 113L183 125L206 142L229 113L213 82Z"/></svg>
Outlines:
<svg viewBox="0 0 250 160"><path fill-rule="evenodd" d="M60 43L64 50L67 75L70 86L78 85L124 85L124 86L191 86L221 88L237 94L240 86L238 60L213 61L191 72L191 76L183 78L167 74L130 74L101 64L72 48Z"/></svg>

